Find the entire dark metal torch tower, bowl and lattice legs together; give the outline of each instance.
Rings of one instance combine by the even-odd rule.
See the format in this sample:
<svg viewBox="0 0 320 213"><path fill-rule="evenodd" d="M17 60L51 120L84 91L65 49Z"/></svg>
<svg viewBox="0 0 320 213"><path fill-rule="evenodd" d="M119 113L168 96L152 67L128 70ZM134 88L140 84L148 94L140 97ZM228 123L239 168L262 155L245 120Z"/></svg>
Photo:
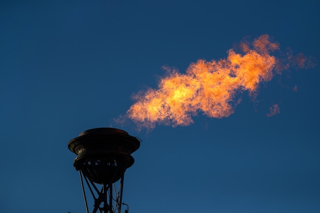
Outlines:
<svg viewBox="0 0 320 213"><path fill-rule="evenodd" d="M133 164L134 159L131 154L139 149L140 142L138 137L115 128L89 129L69 141L68 148L78 155L74 160L74 167L80 174L87 213L89 211L83 179L95 201L93 213L98 210L103 213L121 212L121 204L124 204L122 203L124 173ZM118 192L115 185L117 181L120 182ZM97 184L102 185L101 190Z"/></svg>

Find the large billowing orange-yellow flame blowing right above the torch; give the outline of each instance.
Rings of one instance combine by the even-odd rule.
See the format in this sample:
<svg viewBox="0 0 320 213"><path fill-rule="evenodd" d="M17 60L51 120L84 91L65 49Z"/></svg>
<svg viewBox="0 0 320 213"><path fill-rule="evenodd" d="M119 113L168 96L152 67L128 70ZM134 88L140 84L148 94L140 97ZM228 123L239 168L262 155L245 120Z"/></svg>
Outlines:
<svg viewBox="0 0 320 213"><path fill-rule="evenodd" d="M186 74L173 70L161 79L158 89L138 93L127 116L146 128L155 124L186 126L193 123L192 116L202 111L209 117L226 117L234 112L237 92L257 91L259 83L270 81L276 59L269 51L278 49L268 35L241 46L244 55L228 51L227 59L198 60L191 63Z"/></svg>

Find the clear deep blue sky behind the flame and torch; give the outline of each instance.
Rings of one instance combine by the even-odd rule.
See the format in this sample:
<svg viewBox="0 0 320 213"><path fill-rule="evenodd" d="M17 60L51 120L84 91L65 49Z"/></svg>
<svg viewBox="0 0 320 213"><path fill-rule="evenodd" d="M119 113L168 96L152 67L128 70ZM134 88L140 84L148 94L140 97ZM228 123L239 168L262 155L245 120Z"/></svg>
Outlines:
<svg viewBox="0 0 320 213"><path fill-rule="evenodd" d="M113 122L162 66L184 73L244 37L268 34L319 64L319 11L316 0L1 1L0 212L85 212L67 143L97 127L143 140L125 175L131 213L320 212L319 65L261 84L256 102L243 92L223 119L149 133Z"/></svg>

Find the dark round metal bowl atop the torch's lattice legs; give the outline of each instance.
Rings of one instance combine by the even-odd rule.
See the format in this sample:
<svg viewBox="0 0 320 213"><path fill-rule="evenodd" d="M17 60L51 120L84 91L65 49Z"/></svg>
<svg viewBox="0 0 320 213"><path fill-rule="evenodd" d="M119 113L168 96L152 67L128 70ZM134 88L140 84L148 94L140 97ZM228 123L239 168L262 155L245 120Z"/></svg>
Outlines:
<svg viewBox="0 0 320 213"><path fill-rule="evenodd" d="M131 154L140 147L140 140L126 131L115 128L86 130L68 143L78 156L76 170L98 184L118 181L134 162Z"/></svg>

